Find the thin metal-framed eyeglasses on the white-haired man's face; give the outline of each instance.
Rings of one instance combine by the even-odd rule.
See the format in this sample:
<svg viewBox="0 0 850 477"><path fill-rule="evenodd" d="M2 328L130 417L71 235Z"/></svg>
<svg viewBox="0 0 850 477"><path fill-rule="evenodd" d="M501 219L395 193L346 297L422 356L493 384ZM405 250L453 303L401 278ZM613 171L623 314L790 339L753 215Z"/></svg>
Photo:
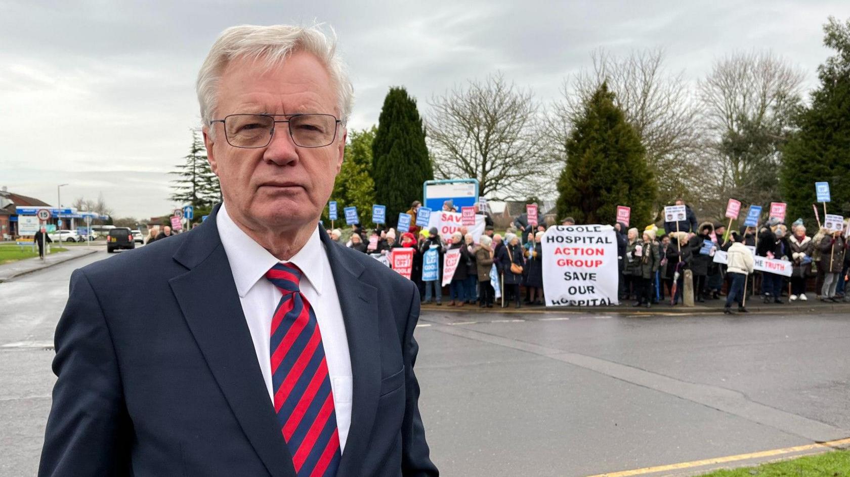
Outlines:
<svg viewBox="0 0 850 477"><path fill-rule="evenodd" d="M275 116L285 116L283 121ZM231 114L224 119L210 121L224 124L227 144L234 147L259 148L271 143L275 124L289 124L292 143L299 147L322 147L337 139L337 124L341 121L330 114Z"/></svg>

